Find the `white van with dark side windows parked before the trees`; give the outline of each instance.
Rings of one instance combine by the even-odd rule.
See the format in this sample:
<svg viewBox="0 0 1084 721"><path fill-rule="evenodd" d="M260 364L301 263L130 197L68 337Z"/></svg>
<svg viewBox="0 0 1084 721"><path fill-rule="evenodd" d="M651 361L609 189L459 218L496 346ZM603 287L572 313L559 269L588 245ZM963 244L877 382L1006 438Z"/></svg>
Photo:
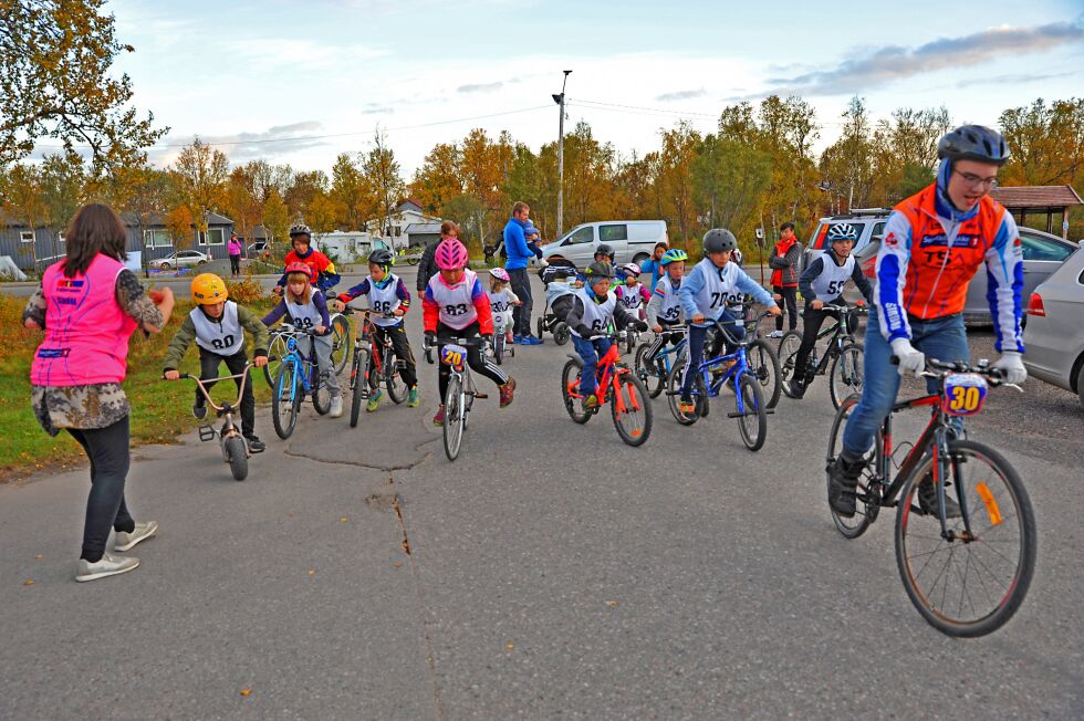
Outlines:
<svg viewBox="0 0 1084 721"><path fill-rule="evenodd" d="M572 261L577 268L591 263L595 248L607 244L615 261L640 263L652 257L656 243L669 243L665 220L605 220L576 226L563 237L542 248L542 258Z"/></svg>

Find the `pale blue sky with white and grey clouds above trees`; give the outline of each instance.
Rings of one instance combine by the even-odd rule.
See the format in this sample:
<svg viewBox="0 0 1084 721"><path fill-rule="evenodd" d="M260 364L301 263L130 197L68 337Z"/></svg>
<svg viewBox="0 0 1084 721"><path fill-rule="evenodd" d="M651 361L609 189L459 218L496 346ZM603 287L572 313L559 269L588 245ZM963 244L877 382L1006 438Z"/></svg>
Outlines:
<svg viewBox="0 0 1084 721"><path fill-rule="evenodd" d="M555 138L550 95L569 77L570 124L623 153L687 119L798 93L821 147L851 96L875 117L946 105L994 125L1005 107L1084 95L1084 1L913 0L113 0L135 103L170 126L168 163L194 135L234 163L329 169L387 130L407 179L436 143L472 127L534 148ZM884 6L882 8L880 6ZM256 143L252 143L256 140Z"/></svg>

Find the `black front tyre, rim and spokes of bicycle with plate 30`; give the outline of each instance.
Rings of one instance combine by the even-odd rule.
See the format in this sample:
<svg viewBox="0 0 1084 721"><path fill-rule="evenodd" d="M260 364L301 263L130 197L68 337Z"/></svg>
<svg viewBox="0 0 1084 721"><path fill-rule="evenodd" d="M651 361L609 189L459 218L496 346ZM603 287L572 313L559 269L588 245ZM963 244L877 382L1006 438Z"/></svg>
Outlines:
<svg viewBox="0 0 1084 721"><path fill-rule="evenodd" d="M960 499L960 490L963 489L963 497L968 499L966 508L971 520L973 539L967 543L956 541L947 543L940 537L939 515L916 512L917 506L913 506L911 498L917 491L918 480L925 478L934 469L932 458L927 457L911 473L900 492L900 502L896 514L896 565L899 568L907 596L930 626L948 636L972 638L986 636L1001 628L1020 608L1028 595L1034 574L1039 539L1028 491L1015 469L1003 456L988 446L970 440L950 441L949 454L951 456L956 497ZM978 464L980 461L984 468L980 477L982 480L976 483L973 489L969 489L969 482L963 478L966 470L961 469L969 463ZM994 483L996 480L1000 480L1003 484L1003 489L999 484L997 494L989 488L990 483ZM986 491L983 492L982 489ZM948 492L947 488L946 492ZM1014 513L1005 512L1009 504L1011 504L1011 510ZM983 519L989 522L989 526L978 529ZM1013 520L1017 521L1015 524L1011 523ZM962 530L962 519L949 519L946 524L952 526L950 530ZM1019 548L1015 553L1012 550L1012 541L1005 537L1010 526L1014 526L1019 533ZM925 547L923 541L934 530L937 532L937 537L934 539L937 546L934 551L921 555L918 553L914 556L908 555L911 548L917 552ZM1001 531L1005 532L1001 533ZM930 564L939 564L942 561L940 557L935 558L935 555L939 553L941 547L946 546L948 558L945 560L945 566L938 577L934 579L929 591L919 588L918 576L923 575ZM986 563L979 560L979 548L982 548L983 553L990 552L986 555ZM1001 595L1002 591L1000 589L994 592L996 596L1001 595L1000 598L991 597L988 586L988 584L997 581L993 577L993 572L990 571L990 564L996 563L994 555L1010 563L1013 562L1012 556L1015 556L1015 567L1005 577L1003 595ZM928 557L924 558L923 556ZM961 562L957 556L966 556L966 560ZM957 564L956 573L946 573L945 568L953 562ZM960 571L961 564L963 565L962 572ZM935 565L934 568L936 567ZM959 610L962 615L965 597L968 605L974 610L976 598L967 591L969 574L974 574L976 577L981 578L982 573L989 574L982 583L981 589L990 599L992 609L986 614L976 610L977 617L973 619L953 617L948 606L956 602L957 593L953 589L952 598L949 598L949 583L962 579L963 589L959 593ZM944 589L940 591L941 603L937 604L937 584L941 576L945 576L945 583Z"/></svg>

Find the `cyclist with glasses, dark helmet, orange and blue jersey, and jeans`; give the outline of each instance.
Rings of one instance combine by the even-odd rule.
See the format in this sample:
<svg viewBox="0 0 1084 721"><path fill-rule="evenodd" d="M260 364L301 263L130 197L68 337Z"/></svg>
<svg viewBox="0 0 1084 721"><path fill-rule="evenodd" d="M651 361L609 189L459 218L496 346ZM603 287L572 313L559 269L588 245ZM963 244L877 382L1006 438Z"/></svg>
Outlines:
<svg viewBox="0 0 1084 721"><path fill-rule="evenodd" d="M949 132L937 144L937 181L897 205L877 253L876 314L866 328L862 399L847 419L843 449L828 466L828 503L853 516L855 488L877 429L892 410L899 378L920 375L926 356L967 362L963 303L968 284L986 264L987 300L993 318L994 367L1009 383L1028 377L1020 332L1023 259L1012 216L987 192L1009 160L1000 133L980 125ZM898 367L890 359L898 358ZM897 373L898 370L898 373ZM930 393L937 384L927 379ZM924 510L937 509L929 479L918 489ZM959 515L947 499L949 515Z"/></svg>

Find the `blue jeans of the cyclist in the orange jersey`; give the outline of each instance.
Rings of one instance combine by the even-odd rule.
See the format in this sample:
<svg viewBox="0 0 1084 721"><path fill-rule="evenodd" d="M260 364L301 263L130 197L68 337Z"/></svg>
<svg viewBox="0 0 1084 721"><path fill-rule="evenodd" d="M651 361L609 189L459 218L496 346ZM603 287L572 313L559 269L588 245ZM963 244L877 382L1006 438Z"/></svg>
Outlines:
<svg viewBox="0 0 1084 721"><path fill-rule="evenodd" d="M970 359L962 315L931 321L911 318L910 330L911 345L925 353L927 358L946 363ZM862 400L847 418L847 427L843 431L843 450L854 458L863 456L873 447L877 430L892 411L899 391L899 372L889 363L893 356L892 346L880 335L876 313L869 314L865 346ZM927 378L926 389L937 393L937 380Z"/></svg>

